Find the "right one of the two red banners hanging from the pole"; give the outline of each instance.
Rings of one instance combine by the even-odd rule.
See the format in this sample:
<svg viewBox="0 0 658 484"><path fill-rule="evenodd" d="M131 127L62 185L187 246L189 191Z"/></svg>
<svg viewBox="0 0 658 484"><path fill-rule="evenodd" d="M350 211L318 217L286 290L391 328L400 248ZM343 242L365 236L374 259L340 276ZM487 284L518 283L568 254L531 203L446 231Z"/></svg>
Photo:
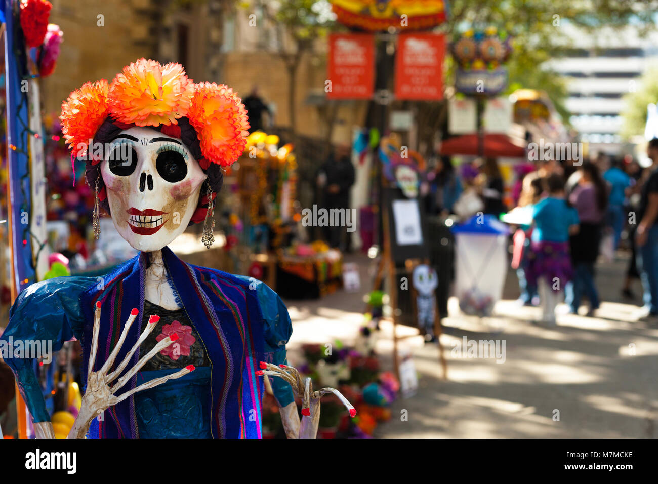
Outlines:
<svg viewBox="0 0 658 484"><path fill-rule="evenodd" d="M442 34L399 34L395 53L395 99L443 99Z"/></svg>

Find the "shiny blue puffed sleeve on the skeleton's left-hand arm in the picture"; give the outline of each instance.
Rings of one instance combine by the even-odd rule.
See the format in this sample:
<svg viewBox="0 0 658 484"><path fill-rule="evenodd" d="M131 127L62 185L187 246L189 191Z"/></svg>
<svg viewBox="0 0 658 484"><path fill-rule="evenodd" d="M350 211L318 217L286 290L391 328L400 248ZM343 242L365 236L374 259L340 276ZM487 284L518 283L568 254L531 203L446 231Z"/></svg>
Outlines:
<svg viewBox="0 0 658 484"><path fill-rule="evenodd" d="M34 373L32 348L52 358L64 342L82 336L80 294L95 284L91 277L55 277L36 282L20 294L9 311L9 325L0 336L5 363L11 367L35 422L49 421L41 386Z"/></svg>

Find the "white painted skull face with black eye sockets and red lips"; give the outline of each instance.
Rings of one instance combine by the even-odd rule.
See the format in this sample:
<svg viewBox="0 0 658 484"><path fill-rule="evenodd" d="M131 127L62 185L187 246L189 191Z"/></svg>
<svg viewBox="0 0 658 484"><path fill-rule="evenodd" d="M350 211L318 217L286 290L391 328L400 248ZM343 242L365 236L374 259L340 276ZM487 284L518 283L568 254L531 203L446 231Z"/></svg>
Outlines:
<svg viewBox="0 0 658 484"><path fill-rule="evenodd" d="M207 178L181 140L141 127L120 132L106 147L101 176L114 227L142 252L184 232Z"/></svg>

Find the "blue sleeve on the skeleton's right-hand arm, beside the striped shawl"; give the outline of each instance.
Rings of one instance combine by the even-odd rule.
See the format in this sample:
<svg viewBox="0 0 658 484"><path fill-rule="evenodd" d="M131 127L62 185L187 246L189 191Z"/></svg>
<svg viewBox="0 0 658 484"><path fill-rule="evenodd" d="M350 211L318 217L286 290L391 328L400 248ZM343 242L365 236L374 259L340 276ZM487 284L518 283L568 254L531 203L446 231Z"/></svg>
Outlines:
<svg viewBox="0 0 658 484"><path fill-rule="evenodd" d="M249 283L249 288L257 291L259 306L265 324L265 352L268 363L287 365L286 344L292 335L292 323L288 308L281 298L265 282L251 277L238 276ZM274 397L279 406L286 406L295 401L290 383L282 378L270 378Z"/></svg>

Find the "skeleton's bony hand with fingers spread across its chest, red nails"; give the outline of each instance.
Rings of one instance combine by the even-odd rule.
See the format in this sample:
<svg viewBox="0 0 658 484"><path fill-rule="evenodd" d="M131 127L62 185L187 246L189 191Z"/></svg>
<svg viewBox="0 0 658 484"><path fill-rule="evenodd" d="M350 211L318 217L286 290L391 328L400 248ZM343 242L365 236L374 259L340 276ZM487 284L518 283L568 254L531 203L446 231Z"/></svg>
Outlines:
<svg viewBox="0 0 658 484"><path fill-rule="evenodd" d="M119 337L118 342L116 342L116 346L112 350L109 358L107 358L105 363L103 363L103 367L101 367L99 371L93 371L93 365L96 360L96 353L98 350L98 333L101 323L101 303L96 303L96 311L93 321L93 336L91 338L91 353L89 354L89 367L87 370L87 389L85 390L84 396L82 396L82 406L80 406L78 417L76 417L76 421L73 424L71 431L68 433L69 439L84 439L91 421L94 419L94 417L102 414L107 408L116 405L123 400L126 400L126 398L129 396L141 390L157 387L158 385L162 385L164 382L170 379L180 378L194 370L194 365L188 365L176 373L172 373L160 378L155 378L153 380L147 381L146 383L143 383L142 385L139 385L139 387L128 390L123 394L118 396L115 395L116 391L126 385L126 383L132 377L134 377L135 373L137 373L147 361L149 361L158 352L164 350L164 348L178 339L178 335L174 333L173 335L167 336L158 342L155 346L153 346L151 351L149 351L145 356L143 356L143 358L139 360L139 362L137 362L136 365L134 365L134 367L129 369L125 375L117 379L114 385L111 385L111 383L118 377L118 375L120 375L122 371L126 369L126 366L128 366L128 363L130 363L130 360L138 350L139 345L141 345L147 336L151 334L151 331L153 331L153 328L155 328L156 323L160 320L160 317L156 315L151 315L151 317L149 317L149 322L146 325L146 328L141 333L134 346L130 349L126 355L126 358L124 358L124 360L118 365L118 367L116 367L113 372L108 373L109 369L114 364L114 360L116 360L116 356L118 355L119 350L126 340L128 330L130 329L133 321L135 321L137 315L138 310L135 308L131 311L130 317L128 317L128 321L126 321L121 336Z"/></svg>

